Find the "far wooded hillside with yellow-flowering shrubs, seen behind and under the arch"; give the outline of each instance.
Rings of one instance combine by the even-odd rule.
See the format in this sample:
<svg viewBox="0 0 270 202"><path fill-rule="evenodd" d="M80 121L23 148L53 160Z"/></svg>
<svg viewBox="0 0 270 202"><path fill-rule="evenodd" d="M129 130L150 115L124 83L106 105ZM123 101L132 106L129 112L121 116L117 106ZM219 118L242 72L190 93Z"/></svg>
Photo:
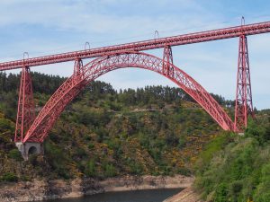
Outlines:
<svg viewBox="0 0 270 202"><path fill-rule="evenodd" d="M65 78L32 74L40 110ZM202 146L220 127L178 88L116 92L94 82L67 106L44 143L44 156L23 162L12 139L18 75L0 75L1 180L190 174ZM220 96L220 103L229 106ZM37 111L38 112L38 111Z"/></svg>

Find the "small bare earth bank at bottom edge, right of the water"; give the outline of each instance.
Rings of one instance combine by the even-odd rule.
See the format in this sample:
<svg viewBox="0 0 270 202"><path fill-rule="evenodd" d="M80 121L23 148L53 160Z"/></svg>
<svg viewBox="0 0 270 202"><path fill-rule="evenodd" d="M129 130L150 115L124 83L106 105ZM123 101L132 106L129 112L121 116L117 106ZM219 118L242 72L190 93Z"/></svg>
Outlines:
<svg viewBox="0 0 270 202"><path fill-rule="evenodd" d="M186 188L171 198L167 198L163 202L203 202L198 194L194 192L192 187Z"/></svg>

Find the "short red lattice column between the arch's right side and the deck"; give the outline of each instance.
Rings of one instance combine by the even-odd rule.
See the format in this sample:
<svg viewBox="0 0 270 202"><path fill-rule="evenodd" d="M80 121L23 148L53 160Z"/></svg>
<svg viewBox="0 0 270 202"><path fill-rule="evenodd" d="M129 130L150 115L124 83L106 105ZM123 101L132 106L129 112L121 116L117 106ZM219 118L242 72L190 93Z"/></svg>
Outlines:
<svg viewBox="0 0 270 202"><path fill-rule="evenodd" d="M174 77L174 68L173 65L173 52L170 46L166 46L163 51L163 66L162 72L164 75Z"/></svg>

